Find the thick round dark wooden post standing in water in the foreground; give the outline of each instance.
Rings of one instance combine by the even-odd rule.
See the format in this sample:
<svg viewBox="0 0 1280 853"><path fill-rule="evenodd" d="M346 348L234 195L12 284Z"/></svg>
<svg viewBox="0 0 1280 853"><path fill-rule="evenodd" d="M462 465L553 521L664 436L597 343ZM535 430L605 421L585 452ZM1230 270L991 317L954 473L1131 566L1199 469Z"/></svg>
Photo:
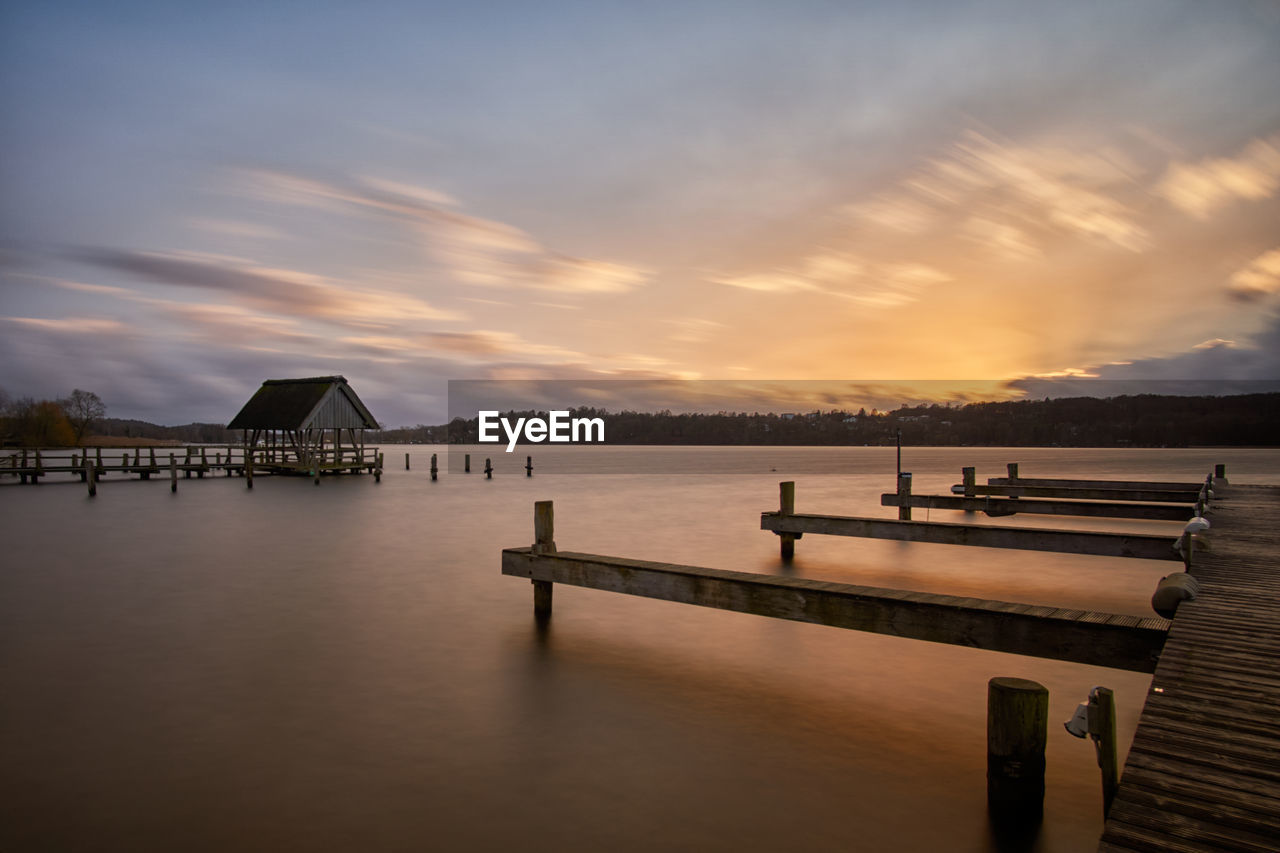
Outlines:
<svg viewBox="0 0 1280 853"><path fill-rule="evenodd" d="M987 683L987 808L1002 821L1037 822L1044 813L1048 690L1027 679Z"/></svg>

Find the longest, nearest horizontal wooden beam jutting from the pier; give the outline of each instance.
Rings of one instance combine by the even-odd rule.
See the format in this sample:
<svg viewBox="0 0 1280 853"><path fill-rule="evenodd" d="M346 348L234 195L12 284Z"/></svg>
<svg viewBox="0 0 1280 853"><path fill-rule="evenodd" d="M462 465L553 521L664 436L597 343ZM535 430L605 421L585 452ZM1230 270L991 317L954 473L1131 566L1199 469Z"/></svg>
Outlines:
<svg viewBox="0 0 1280 853"><path fill-rule="evenodd" d="M1151 672L1169 621L589 553L502 552L502 574L756 616Z"/></svg>

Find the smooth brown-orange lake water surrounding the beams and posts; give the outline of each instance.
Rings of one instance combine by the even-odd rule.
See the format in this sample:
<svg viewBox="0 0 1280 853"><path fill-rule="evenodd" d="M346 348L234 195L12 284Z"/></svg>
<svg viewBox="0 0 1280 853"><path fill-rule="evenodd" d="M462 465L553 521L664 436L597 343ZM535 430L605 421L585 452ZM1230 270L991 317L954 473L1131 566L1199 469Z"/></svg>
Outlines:
<svg viewBox="0 0 1280 853"><path fill-rule="evenodd" d="M109 479L91 501L5 480L0 849L997 849L995 675L1050 689L1046 818L1021 847L1093 849L1093 749L1059 721L1105 684L1128 748L1148 676L566 587L539 634L530 585L499 574L535 500L562 549L778 573L759 530L778 480L803 512L890 517L892 448L540 448L534 479L521 451L474 451L492 482L431 483L439 447L388 447L380 484ZM904 452L916 493L1006 461L1280 482L1274 451ZM812 535L792 571L1148 615L1170 569Z"/></svg>

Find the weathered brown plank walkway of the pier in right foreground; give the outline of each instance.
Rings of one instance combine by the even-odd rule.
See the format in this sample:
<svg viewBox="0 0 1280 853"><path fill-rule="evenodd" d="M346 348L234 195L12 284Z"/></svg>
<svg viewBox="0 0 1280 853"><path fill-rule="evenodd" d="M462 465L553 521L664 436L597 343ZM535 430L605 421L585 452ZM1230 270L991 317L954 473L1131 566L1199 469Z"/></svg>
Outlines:
<svg viewBox="0 0 1280 853"><path fill-rule="evenodd" d="M1280 487L1217 487L1101 850L1280 849Z"/></svg>

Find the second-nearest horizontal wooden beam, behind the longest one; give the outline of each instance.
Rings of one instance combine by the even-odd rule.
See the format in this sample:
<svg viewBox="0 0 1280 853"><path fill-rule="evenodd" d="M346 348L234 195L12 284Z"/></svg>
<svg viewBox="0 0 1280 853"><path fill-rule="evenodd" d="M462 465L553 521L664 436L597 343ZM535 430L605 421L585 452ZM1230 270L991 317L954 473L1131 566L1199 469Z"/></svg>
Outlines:
<svg viewBox="0 0 1280 853"><path fill-rule="evenodd" d="M932 542L982 548L1056 551L1098 557L1138 557L1142 560L1181 560L1174 551L1176 537L1139 533L1098 533L1094 530L1055 530L1050 528L1002 528L947 521L895 521L842 515L760 514L760 529L774 533L822 533L836 537L865 537L901 542Z"/></svg>

